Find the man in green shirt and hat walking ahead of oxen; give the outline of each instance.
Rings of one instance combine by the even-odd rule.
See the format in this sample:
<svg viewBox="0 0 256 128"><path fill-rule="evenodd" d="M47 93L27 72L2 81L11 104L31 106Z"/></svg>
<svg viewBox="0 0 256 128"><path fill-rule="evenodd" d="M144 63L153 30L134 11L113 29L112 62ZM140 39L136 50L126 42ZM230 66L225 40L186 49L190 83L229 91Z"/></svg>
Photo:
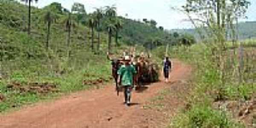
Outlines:
<svg viewBox="0 0 256 128"><path fill-rule="evenodd" d="M124 87L125 105L129 105L131 102L131 90L133 86L133 76L136 74L135 68L130 64L130 57L125 56L125 64L120 67L117 74L119 75L119 83L121 81ZM120 77L122 76L122 78Z"/></svg>

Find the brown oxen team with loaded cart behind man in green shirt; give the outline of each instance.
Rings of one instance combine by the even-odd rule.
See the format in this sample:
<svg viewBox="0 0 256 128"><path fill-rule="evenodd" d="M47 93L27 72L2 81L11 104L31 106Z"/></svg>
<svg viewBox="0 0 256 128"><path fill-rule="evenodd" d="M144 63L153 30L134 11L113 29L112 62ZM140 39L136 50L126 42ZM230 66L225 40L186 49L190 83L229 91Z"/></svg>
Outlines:
<svg viewBox="0 0 256 128"><path fill-rule="evenodd" d="M137 74L134 75L133 84L135 90L139 90L143 85L149 84L151 82L158 81L158 66L150 61L150 57L147 58L143 53L140 55L128 54L124 52L124 55L118 58L113 58L108 54L108 59L111 60L112 65L112 76L115 81L116 90L118 91L119 85L118 83L118 74L117 71L123 64L124 56L129 55L131 58L131 64L135 67Z"/></svg>

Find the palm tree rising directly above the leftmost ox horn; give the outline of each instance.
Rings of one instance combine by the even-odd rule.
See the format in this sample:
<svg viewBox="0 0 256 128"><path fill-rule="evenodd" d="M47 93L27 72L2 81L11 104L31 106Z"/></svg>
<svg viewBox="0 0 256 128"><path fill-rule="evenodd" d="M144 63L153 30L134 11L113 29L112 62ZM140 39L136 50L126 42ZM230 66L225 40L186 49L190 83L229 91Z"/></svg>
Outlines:
<svg viewBox="0 0 256 128"><path fill-rule="evenodd" d="M116 18L116 7L106 6L105 15L107 19L107 29L108 29L108 52L111 52L111 37L113 31L115 30L115 18Z"/></svg>

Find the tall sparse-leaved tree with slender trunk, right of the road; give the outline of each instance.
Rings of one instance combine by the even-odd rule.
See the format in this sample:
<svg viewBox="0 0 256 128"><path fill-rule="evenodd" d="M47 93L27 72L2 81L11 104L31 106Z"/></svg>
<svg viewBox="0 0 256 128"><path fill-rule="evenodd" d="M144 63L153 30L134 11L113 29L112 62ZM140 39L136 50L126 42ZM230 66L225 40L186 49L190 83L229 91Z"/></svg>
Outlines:
<svg viewBox="0 0 256 128"><path fill-rule="evenodd" d="M217 47L217 50L218 50L216 52L218 56L218 59L216 61L218 61L217 67L219 68L219 72L220 72L219 75L221 78L221 84L225 84L225 79L224 79L224 76L225 76L224 42L225 42L225 34L226 34L225 20L230 19L230 18L226 18L227 4L230 4L233 6L233 9L231 12L232 14L235 15L236 18L238 18L245 14L248 6L250 5L250 2L248 0L187 0L186 6L183 6L184 10L187 13L194 12L196 15L199 16L197 21L201 22L201 25L203 26L205 25L208 26L208 27L205 27L207 28L206 30L208 31L207 34L211 37L213 36L214 40L216 40L218 43L217 45L214 45L214 47L215 48ZM192 18L190 17L190 19ZM193 19L192 19L192 22L194 22ZM212 50L215 51L215 48L213 48Z"/></svg>

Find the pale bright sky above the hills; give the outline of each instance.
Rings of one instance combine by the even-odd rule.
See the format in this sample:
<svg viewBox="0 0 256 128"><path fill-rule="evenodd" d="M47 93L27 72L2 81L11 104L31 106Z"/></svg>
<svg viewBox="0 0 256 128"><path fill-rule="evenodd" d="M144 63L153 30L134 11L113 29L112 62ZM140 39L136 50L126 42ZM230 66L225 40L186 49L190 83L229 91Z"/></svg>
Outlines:
<svg viewBox="0 0 256 128"><path fill-rule="evenodd" d="M39 0L33 3L33 6L42 8L52 2L61 3L64 8L71 9L74 2L82 3L88 12L93 12L96 8L115 5L117 14L128 18L141 20L143 18L154 19L157 26L163 26L165 29L187 29L192 28L189 21L184 21L187 16L182 12L172 9L172 7L181 7L186 0ZM242 21L256 21L256 0L250 0L251 6L247 11L248 19Z"/></svg>

